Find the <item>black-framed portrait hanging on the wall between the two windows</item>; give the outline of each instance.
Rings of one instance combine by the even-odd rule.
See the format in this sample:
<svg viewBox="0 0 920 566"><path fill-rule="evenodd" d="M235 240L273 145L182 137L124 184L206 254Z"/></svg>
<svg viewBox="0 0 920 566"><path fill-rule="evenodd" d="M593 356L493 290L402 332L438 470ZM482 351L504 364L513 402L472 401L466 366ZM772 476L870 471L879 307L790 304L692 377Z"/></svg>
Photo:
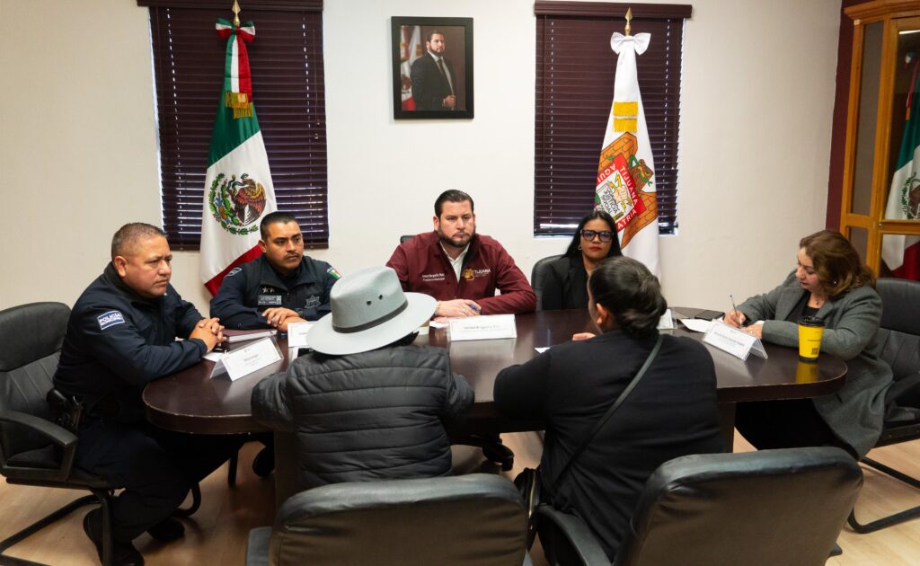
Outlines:
<svg viewBox="0 0 920 566"><path fill-rule="evenodd" d="M472 17L390 17L393 57L393 118L395 120L456 120L473 118L473 18ZM443 73L427 52L426 37L437 30L442 34L446 82ZM412 67L417 81L412 84ZM427 77L432 77L429 80ZM425 80L421 80L425 79ZM422 87L424 85L424 87ZM447 90L447 89L450 90ZM445 95L443 96L442 95ZM418 97L418 100L416 99ZM450 97L453 97L453 101ZM454 109L445 108L454 104Z"/></svg>

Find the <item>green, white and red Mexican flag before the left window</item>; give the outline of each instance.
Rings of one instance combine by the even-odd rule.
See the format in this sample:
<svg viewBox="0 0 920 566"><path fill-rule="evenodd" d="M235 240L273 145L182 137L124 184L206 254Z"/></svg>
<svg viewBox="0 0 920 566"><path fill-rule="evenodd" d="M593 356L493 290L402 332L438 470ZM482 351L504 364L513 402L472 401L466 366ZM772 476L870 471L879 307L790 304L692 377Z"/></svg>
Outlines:
<svg viewBox="0 0 920 566"><path fill-rule="evenodd" d="M217 19L227 39L224 88L204 181L201 213L201 281L212 295L224 275L259 257L259 219L278 209L259 121L252 104L252 75L246 44L256 37L252 22L242 26Z"/></svg>

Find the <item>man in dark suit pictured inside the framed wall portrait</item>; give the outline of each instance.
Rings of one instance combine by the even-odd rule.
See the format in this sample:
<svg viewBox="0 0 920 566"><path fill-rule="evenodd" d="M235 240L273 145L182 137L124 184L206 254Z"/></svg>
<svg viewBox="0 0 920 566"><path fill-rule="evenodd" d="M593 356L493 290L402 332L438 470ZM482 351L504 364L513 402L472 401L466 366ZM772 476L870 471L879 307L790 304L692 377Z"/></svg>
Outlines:
<svg viewBox="0 0 920 566"><path fill-rule="evenodd" d="M444 57L444 34L432 30L425 39L427 52L412 64L412 98L416 110L455 110L454 68Z"/></svg>

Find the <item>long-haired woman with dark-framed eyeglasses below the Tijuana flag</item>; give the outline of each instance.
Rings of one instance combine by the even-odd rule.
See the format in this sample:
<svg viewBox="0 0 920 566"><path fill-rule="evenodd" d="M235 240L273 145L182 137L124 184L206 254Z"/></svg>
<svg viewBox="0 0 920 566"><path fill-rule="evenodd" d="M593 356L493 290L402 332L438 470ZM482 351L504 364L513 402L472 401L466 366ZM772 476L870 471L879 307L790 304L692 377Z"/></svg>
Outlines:
<svg viewBox="0 0 920 566"><path fill-rule="evenodd" d="M588 306L588 275L604 258L621 255L613 217L597 209L587 214L565 255L546 266L543 310Z"/></svg>

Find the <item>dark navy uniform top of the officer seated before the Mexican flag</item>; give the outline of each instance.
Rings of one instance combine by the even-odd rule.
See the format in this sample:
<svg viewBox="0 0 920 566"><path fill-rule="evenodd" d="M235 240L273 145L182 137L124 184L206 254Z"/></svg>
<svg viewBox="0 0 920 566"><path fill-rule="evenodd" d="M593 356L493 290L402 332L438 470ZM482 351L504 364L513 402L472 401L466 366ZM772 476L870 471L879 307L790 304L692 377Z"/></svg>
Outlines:
<svg viewBox="0 0 920 566"><path fill-rule="evenodd" d="M329 291L339 279L326 261L304 256L291 277L282 277L265 256L234 268L211 299L211 316L228 329L266 329L266 308L290 308L305 320L317 320L329 312Z"/></svg>

